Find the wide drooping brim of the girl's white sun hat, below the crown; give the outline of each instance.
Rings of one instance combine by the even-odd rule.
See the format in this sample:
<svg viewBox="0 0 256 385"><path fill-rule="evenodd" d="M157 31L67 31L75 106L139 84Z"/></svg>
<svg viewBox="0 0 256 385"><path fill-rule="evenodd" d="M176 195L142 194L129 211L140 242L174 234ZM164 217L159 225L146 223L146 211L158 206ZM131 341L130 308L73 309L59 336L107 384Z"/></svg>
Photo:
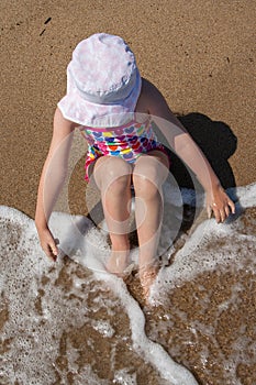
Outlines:
<svg viewBox="0 0 256 385"><path fill-rule="evenodd" d="M133 118L141 94L142 78L136 73L134 87L125 99L112 103L96 103L81 97L67 70L67 94L57 103L65 119L90 128L111 128L127 123Z"/></svg>

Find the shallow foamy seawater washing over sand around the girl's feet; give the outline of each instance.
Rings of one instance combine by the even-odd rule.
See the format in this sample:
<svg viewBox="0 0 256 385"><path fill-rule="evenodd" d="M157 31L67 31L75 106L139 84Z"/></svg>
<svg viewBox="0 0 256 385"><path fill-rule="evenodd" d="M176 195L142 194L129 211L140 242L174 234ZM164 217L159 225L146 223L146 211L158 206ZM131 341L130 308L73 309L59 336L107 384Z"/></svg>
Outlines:
<svg viewBox="0 0 256 385"><path fill-rule="evenodd" d="M89 219L52 216L70 256L53 264L34 221L0 207L0 384L255 384L256 185L237 196L235 218L170 245L147 306L136 275L103 271Z"/></svg>

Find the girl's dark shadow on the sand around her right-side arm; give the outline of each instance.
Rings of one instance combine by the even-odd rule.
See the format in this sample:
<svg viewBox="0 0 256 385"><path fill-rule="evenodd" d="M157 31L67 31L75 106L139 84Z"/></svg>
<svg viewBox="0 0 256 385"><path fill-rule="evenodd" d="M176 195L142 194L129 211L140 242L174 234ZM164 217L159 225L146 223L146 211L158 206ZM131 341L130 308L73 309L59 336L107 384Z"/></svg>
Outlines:
<svg viewBox="0 0 256 385"><path fill-rule="evenodd" d="M232 199L236 201L237 198L234 189L235 177L229 164L229 158L236 150L237 139L230 127L221 121L212 121L210 118L199 112L176 116L208 158L214 173L220 179L222 187L224 189L232 188ZM158 140L165 144L166 150L170 155L170 175L171 178L174 178L172 180L175 180L175 184L177 184L180 189L191 189L203 194L202 186L198 183L196 175L191 169L188 169L183 162L169 148L170 146L159 130L157 128L155 129ZM230 194L229 190L227 194ZM172 209L172 222L175 222L175 207ZM170 209L165 210L164 217L166 216L169 220L171 211L172 210ZM194 206L188 205L183 201L182 219L176 224L176 227L180 226L180 231L176 239L172 239L172 242L176 242L183 232L192 232L192 229L205 219L205 210L198 211Z"/></svg>

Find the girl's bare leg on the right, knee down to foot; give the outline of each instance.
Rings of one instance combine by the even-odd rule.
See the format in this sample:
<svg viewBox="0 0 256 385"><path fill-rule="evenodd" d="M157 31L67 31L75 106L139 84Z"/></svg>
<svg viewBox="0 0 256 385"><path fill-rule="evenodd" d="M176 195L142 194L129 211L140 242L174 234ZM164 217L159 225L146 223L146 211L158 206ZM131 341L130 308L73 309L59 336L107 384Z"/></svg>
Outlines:
<svg viewBox="0 0 256 385"><path fill-rule="evenodd" d="M157 246L163 219L162 185L168 175L167 155L152 151L135 163L135 218L140 245L140 278L145 295L157 273Z"/></svg>

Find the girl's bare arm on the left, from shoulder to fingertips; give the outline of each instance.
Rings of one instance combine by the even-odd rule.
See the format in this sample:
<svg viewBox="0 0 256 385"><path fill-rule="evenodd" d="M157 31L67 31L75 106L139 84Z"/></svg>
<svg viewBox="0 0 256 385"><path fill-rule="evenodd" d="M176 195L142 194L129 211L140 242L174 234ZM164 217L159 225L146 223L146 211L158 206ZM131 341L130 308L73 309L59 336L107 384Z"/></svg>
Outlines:
<svg viewBox="0 0 256 385"><path fill-rule="evenodd" d="M47 223L66 178L74 129L75 124L64 119L57 108L54 116L52 143L40 179L35 211L35 226L42 249L54 261L58 250Z"/></svg>

